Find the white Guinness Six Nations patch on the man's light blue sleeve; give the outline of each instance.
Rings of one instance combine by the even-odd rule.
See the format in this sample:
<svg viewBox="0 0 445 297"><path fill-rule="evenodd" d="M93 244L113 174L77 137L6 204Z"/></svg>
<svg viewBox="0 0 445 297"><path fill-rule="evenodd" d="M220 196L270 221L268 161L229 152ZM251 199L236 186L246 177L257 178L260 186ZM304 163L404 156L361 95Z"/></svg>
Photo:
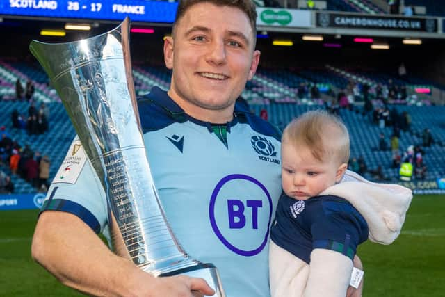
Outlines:
<svg viewBox="0 0 445 297"><path fill-rule="evenodd" d="M56 177L54 177L53 184L59 182L76 184L86 161L87 157L81 142L79 140L73 141L62 165L58 169Z"/></svg>

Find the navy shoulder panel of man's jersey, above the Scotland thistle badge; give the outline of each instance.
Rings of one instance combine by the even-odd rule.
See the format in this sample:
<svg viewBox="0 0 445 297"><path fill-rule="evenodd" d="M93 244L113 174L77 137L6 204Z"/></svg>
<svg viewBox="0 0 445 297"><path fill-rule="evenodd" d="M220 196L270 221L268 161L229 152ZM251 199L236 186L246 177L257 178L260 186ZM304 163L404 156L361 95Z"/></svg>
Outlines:
<svg viewBox="0 0 445 297"><path fill-rule="evenodd" d="M254 131L281 141L282 131L280 129L270 124L270 122L259 118L258 115L254 115L245 109L242 104L238 104L238 102L235 104L235 115L239 122L250 125Z"/></svg>

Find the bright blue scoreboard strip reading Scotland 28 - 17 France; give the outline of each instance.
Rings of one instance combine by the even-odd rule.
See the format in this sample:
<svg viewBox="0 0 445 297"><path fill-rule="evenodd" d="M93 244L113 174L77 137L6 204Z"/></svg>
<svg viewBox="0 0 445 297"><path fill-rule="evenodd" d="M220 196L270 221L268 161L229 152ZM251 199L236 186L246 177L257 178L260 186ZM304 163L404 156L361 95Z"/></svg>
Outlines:
<svg viewBox="0 0 445 297"><path fill-rule="evenodd" d="M144 0L1 0L1 16L104 19L132 22L175 21L177 2Z"/></svg>

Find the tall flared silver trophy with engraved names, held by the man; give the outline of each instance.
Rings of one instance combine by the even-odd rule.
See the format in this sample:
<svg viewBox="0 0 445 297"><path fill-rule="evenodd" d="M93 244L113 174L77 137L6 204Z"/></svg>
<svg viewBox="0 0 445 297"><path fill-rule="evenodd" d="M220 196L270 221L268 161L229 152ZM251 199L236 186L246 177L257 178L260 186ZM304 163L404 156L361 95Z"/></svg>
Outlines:
<svg viewBox="0 0 445 297"><path fill-rule="evenodd" d="M108 202L113 248L155 276L204 278L225 296L215 266L191 259L168 225L154 186L131 74L129 19L76 42L29 48L56 88Z"/></svg>

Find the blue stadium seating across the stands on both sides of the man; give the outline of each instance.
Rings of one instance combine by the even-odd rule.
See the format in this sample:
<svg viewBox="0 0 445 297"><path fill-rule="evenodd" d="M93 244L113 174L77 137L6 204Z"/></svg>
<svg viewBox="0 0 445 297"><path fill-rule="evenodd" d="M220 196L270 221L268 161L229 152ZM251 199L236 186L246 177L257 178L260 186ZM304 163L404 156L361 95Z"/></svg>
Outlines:
<svg viewBox="0 0 445 297"><path fill-rule="evenodd" d="M56 175L59 164L63 161L72 138L74 138L74 129L63 105L60 104L60 99L54 90L47 86L47 79L45 79L39 67L24 63L0 61L0 95L6 94L6 96L14 98L15 80L20 78L22 81L26 81L31 77L39 81L38 90L40 90L40 95L36 96L35 99L39 101L43 98L42 101L49 102L47 104L51 113L49 132L29 136L26 131L10 129L10 114L14 109L26 114L29 103L25 101L3 100L3 102L0 102L2 110L0 125L6 125L13 138L21 145L29 143L33 150L39 151L42 155L48 154L50 156L50 179L52 179ZM323 88L344 89L351 80L375 85L385 83L389 78L393 79L394 83L406 83L406 81L399 81L397 77L391 77L389 74L348 72L331 66L300 70L260 69L254 79L248 82L242 96L248 100L253 112L259 114L261 109L266 109L270 122L283 129L297 115L307 110L325 108L321 99L298 97L298 87L301 83L316 84L321 90ZM138 95L149 92L149 89L155 85L166 90L170 84L170 71L165 70L165 67L134 65L133 79ZM430 83L426 80L416 82ZM426 127L432 128L435 143L424 149L424 161L428 166L427 178L443 177L445 172L440 160L445 153L445 106L396 105L396 109L400 113L407 111L412 118L410 131L401 132L401 150L406 150L410 145L421 143L423 129ZM382 165L385 177L392 180L397 179L398 170L391 168L391 152L375 150L378 147L380 132L383 132L389 138L392 131L391 127L378 128L378 126L372 124L371 118L368 115L363 115L361 111L362 107L360 106L356 107L355 111L348 109L341 109L340 111L341 118L343 118L350 131L351 157L363 156L369 169L375 169ZM10 174L7 167L1 169ZM369 174L366 174L366 177L373 178ZM16 185L17 193L33 191L31 185L19 177L14 176L13 182Z"/></svg>

